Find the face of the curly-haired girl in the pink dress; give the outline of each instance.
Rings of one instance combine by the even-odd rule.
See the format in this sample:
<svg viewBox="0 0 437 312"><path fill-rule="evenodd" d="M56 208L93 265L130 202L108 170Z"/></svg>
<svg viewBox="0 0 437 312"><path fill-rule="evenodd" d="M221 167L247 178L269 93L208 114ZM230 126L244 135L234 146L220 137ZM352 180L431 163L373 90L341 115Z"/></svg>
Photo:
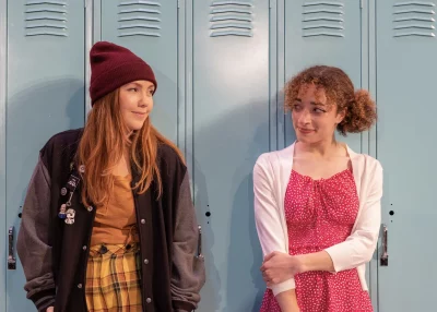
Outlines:
<svg viewBox="0 0 437 312"><path fill-rule="evenodd" d="M292 120L297 141L314 144L332 140L336 125L345 111L338 112L336 105L328 104L323 88L314 84L303 85L292 104Z"/></svg>

